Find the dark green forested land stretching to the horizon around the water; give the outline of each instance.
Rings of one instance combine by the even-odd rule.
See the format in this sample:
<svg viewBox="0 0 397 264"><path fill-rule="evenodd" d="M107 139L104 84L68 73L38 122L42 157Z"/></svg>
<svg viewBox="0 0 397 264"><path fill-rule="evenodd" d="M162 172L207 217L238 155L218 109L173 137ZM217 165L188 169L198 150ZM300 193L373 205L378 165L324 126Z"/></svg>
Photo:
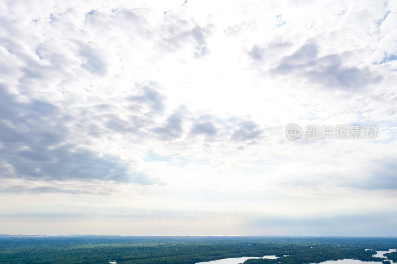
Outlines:
<svg viewBox="0 0 397 264"><path fill-rule="evenodd" d="M372 254L396 247L397 238L390 237L0 236L0 263L195 264L275 255L280 258L251 259L244 264L303 264L339 259L378 261L381 264L385 259L373 258ZM396 253L387 256L390 260L397 258Z"/></svg>

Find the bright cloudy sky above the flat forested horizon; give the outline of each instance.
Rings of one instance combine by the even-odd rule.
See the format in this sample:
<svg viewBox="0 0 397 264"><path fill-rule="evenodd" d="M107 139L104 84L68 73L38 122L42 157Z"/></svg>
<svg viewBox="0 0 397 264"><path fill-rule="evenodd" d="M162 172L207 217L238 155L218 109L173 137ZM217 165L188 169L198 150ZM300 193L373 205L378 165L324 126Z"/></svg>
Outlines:
<svg viewBox="0 0 397 264"><path fill-rule="evenodd" d="M396 25L392 0L1 0L0 233L397 236Z"/></svg>

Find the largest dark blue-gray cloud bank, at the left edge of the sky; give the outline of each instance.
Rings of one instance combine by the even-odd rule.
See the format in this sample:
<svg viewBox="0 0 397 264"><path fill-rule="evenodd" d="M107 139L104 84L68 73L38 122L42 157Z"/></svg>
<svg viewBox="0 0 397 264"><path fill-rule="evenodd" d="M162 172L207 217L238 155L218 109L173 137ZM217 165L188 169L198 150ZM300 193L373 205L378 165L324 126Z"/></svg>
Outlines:
<svg viewBox="0 0 397 264"><path fill-rule="evenodd" d="M20 103L0 88L0 167L2 177L101 179L148 184L118 157L98 155L77 145L57 106Z"/></svg>

